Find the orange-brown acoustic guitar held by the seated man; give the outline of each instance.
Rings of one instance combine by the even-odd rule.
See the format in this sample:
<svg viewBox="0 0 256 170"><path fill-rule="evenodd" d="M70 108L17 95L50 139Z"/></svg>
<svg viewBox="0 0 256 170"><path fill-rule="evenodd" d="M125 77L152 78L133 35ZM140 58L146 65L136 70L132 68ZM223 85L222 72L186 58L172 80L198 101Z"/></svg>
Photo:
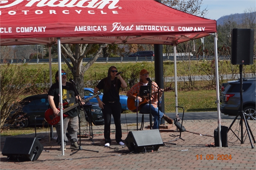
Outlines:
<svg viewBox="0 0 256 170"><path fill-rule="evenodd" d="M172 90L171 87L166 87L164 89L164 91L170 91L170 90ZM151 95L155 95L156 93L157 93L157 91L154 92L154 93L151 93ZM137 94L138 93L133 93L134 96L137 96ZM142 101L139 102L139 104L138 104L138 111L141 109L142 106L146 105L149 102L149 98L148 97L145 97L145 96L140 96L140 97L142 98ZM134 99L131 99L131 98L128 97L128 99L127 99L127 106L128 106L128 109L130 111L132 111L134 113L137 112L137 107L135 106L135 100Z"/></svg>

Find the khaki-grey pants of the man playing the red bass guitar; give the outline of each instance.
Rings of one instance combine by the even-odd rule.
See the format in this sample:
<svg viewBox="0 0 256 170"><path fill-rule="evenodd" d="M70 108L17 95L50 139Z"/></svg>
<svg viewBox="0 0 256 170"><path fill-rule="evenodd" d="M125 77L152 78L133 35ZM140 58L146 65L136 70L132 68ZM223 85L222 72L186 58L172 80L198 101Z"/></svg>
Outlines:
<svg viewBox="0 0 256 170"><path fill-rule="evenodd" d="M56 132L58 135L58 144L61 143L61 130L60 130L60 121L55 125ZM77 142L77 131L78 131L78 117L65 117L63 119L63 136L64 136L64 144L68 142L68 138L66 136L66 131L68 130L68 135L70 136L70 141L72 143Z"/></svg>

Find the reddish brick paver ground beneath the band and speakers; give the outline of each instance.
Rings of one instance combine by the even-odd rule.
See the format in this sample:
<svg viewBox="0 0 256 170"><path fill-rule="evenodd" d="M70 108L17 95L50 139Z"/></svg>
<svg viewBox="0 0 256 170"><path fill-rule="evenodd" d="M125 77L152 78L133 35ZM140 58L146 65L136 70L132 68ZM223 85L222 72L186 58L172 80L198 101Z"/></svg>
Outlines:
<svg viewBox="0 0 256 170"><path fill-rule="evenodd" d="M229 127L232 119L222 120L221 125ZM241 137L239 121L232 126L232 130ZM248 121L254 138L256 135L255 121ZM148 125L148 123L145 123ZM86 150L79 150L76 154L72 153L67 144L64 155L59 151L60 146L56 140L49 140L49 132L38 134L45 136L40 140L44 146L38 160L15 162L7 160L6 156L0 155L1 170L80 170L80 169L147 169L147 170L166 170L166 169L256 169L256 149L252 148L247 133L244 133L245 141L241 144L238 138L231 132L228 132L228 147L206 147L205 144L214 142L214 129L218 127L217 120L196 120L184 121L184 127L189 132L182 132L181 137L172 141L174 144L165 143L160 146L158 151L134 154L130 153L127 147L122 147L114 141L114 125L112 129L112 143L109 148L104 147L104 126L93 126L94 137L81 138L81 146ZM139 125L140 127L140 125ZM88 132L87 127L82 127L82 132ZM172 127L171 129L175 129ZM126 138L129 131L136 130L136 124L122 124L123 139ZM144 130L147 130L144 128ZM245 126L244 126L245 130ZM54 132L54 135L56 133ZM169 130L160 130L163 142L177 138L170 135L179 135L180 132ZM34 137L35 134L19 135L14 137ZM89 136L90 137L90 136ZM1 151L6 137L1 137ZM253 141L253 145L256 144ZM94 150L99 152L91 152ZM2 153L2 152L1 152ZM227 156L225 156L227 155ZM228 158L228 156L230 156ZM202 157L202 160L201 160ZM225 160L226 157L226 160Z"/></svg>

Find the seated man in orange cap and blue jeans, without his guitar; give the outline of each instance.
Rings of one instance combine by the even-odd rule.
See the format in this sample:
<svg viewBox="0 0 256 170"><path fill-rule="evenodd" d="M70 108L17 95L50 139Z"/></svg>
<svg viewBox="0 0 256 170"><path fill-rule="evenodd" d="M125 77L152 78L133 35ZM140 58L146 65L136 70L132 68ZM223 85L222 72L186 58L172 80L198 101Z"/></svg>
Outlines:
<svg viewBox="0 0 256 170"><path fill-rule="evenodd" d="M134 95L134 94L140 93L141 86L148 86L148 81L151 81L149 79L149 72L146 69L142 69L140 71L140 81L132 86L132 88L126 93L126 96L135 100L136 95ZM154 117L153 129L158 129L159 128L158 122L160 122L160 124L161 124L161 118L164 118L164 120L169 124L172 124L173 120L170 119L167 115L165 115L161 111L159 111L160 119L158 119L158 105L157 105L158 104L158 93L156 93L158 90L158 85L154 81L151 81L151 84L152 84L152 93L155 93L155 95L151 96L151 106L149 106L149 103L146 103L145 105L143 105L140 108L140 111L142 113L148 113L148 112L150 112L150 109L151 109L151 115ZM161 89L160 93L159 93L159 99L161 99L161 97L162 97L162 92L163 92L163 90ZM142 98L140 96L138 96L138 101L142 102Z"/></svg>

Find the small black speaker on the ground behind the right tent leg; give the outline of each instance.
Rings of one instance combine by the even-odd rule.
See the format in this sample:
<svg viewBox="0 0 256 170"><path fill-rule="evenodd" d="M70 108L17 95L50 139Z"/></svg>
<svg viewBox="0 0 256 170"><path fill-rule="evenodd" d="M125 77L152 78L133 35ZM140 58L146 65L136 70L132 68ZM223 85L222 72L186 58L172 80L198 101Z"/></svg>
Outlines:
<svg viewBox="0 0 256 170"><path fill-rule="evenodd" d="M220 126L221 127L221 146L228 147L228 127ZM219 147L219 127L214 129L214 145L215 147Z"/></svg>

